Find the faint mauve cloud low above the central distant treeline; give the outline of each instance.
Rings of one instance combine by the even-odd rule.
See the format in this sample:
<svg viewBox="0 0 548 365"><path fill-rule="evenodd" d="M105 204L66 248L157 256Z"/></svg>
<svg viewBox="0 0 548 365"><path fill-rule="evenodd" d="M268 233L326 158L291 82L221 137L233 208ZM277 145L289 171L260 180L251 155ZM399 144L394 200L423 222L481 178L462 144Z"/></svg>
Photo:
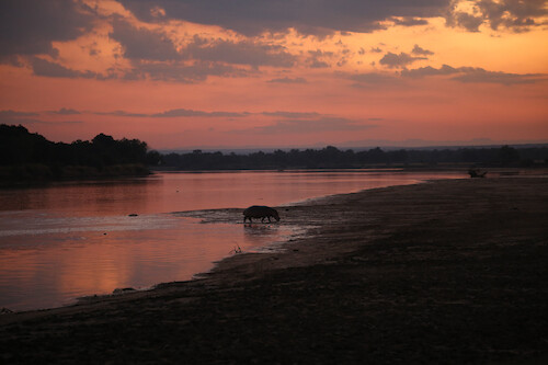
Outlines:
<svg viewBox="0 0 548 365"><path fill-rule="evenodd" d="M376 125L364 125L358 124L355 121L333 117L333 116L320 116L312 119L283 119L277 121L275 124L254 127L247 130L252 134L311 134L318 132L341 132L341 130L363 130L376 127Z"/></svg>

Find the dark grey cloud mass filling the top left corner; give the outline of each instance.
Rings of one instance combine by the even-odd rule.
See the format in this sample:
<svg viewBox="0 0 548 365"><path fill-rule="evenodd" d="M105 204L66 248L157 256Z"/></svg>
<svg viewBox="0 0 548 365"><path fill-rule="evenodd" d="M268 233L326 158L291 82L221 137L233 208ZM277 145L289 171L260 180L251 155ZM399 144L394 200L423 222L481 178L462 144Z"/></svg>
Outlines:
<svg viewBox="0 0 548 365"><path fill-rule="evenodd" d="M0 61L10 55L55 55L52 42L79 37L93 16L72 0L0 1Z"/></svg>

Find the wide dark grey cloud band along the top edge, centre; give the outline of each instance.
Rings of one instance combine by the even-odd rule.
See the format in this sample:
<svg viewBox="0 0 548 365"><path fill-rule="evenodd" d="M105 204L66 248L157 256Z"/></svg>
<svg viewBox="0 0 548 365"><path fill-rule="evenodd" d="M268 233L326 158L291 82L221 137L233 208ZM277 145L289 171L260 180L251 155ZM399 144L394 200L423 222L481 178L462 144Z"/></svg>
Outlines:
<svg viewBox="0 0 548 365"><path fill-rule="evenodd" d="M285 32L302 34L372 32L392 16L416 19L441 16L450 0L118 0L139 19L153 22L152 9L160 7L167 19L219 25L246 35ZM414 22L412 25L415 25ZM403 24L402 25L407 25Z"/></svg>

